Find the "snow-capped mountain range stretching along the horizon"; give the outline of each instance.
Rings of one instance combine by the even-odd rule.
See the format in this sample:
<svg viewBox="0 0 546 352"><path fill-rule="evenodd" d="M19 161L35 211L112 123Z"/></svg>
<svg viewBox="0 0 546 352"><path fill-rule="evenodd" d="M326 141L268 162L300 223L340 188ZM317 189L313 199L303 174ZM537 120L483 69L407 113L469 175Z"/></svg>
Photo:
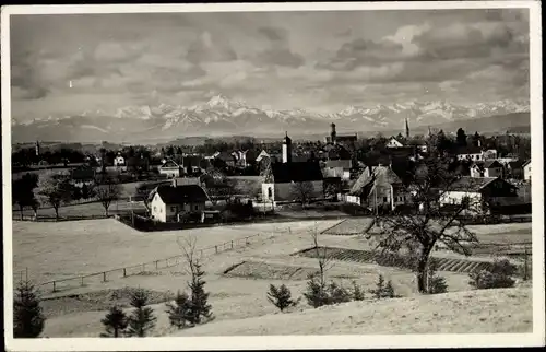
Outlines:
<svg viewBox="0 0 546 352"><path fill-rule="evenodd" d="M131 142L242 133L274 137L285 131L327 134L331 122L335 122L339 131L402 131L406 118L411 127L418 127L512 113L529 113L529 101L499 101L473 106L446 101L408 102L347 106L335 114L316 114L305 109L262 109L216 95L204 104L193 106L128 106L116 112L86 110L75 116L48 116L24 124L13 121L12 140Z"/></svg>

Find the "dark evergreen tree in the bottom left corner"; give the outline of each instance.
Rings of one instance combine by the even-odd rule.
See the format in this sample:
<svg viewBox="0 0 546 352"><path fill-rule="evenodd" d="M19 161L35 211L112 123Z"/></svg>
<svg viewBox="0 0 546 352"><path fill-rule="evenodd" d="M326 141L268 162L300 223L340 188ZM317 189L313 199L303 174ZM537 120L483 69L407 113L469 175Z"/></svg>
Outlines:
<svg viewBox="0 0 546 352"><path fill-rule="evenodd" d="M21 281L13 297L14 338L37 338L41 333L46 318L39 304L34 285L28 280Z"/></svg>

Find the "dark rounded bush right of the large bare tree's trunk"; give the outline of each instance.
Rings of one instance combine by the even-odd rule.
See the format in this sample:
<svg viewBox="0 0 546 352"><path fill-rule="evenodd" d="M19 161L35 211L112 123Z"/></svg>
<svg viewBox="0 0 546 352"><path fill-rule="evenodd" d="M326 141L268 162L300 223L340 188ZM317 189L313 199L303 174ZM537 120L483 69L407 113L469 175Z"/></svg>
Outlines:
<svg viewBox="0 0 546 352"><path fill-rule="evenodd" d="M515 281L511 277L517 270L517 267L507 259L496 259L488 269L471 272L468 283L478 290L512 288Z"/></svg>

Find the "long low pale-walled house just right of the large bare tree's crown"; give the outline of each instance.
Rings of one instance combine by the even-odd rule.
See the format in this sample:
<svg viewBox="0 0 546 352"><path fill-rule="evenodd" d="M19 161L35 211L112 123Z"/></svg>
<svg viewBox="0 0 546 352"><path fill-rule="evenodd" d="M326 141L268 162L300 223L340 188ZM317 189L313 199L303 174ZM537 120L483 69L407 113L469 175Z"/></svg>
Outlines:
<svg viewBox="0 0 546 352"><path fill-rule="evenodd" d="M440 197L440 206L460 204L463 199L471 201L466 213L487 211L484 204L503 204L518 202L518 189L500 177L462 176L451 184Z"/></svg>

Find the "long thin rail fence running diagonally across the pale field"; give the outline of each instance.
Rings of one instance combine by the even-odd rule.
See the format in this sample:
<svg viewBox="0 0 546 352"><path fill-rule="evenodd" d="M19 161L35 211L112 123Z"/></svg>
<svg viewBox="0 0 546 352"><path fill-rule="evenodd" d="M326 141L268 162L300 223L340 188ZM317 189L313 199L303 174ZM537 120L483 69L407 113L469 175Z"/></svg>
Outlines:
<svg viewBox="0 0 546 352"><path fill-rule="evenodd" d="M218 245L210 246L210 247L204 247L204 248L197 248L195 254L199 255L200 257L206 257L206 256L213 256L223 251L227 250L233 250L235 248L240 248L248 246L251 240L256 237L260 236L260 234L242 237L242 238L236 238L232 240L224 242ZM57 279L57 280L51 280L47 282L41 282L37 283L36 286L49 286L51 289L51 292L59 292L63 290L70 290L74 289L76 286L85 286L88 283L93 282L108 282L111 280L116 279L123 279L128 277L134 277L139 274L143 274L150 271L158 271L162 269L167 269L167 268L173 268L178 266L179 263L183 262L185 260L185 255L178 255L178 256L173 256L173 257L167 257L167 258L162 258L162 259L156 259L152 261L146 261L146 262L141 262L138 265L132 265L128 267L121 267L121 268L116 268L116 269L110 269L110 270L103 270L103 271L97 271L84 275L76 275L72 278L66 278L66 279ZM25 274L26 270L22 271L16 271L14 272L14 277L17 278L23 278Z"/></svg>

